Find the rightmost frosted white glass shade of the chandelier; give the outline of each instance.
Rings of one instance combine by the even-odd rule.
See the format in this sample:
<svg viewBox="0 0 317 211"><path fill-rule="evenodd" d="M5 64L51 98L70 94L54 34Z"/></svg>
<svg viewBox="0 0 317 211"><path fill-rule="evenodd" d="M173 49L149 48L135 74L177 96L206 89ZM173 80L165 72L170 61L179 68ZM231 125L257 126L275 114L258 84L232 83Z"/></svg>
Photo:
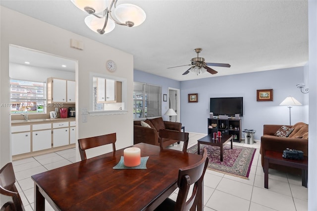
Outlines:
<svg viewBox="0 0 317 211"><path fill-rule="evenodd" d="M114 9L114 15L122 23L132 21L134 23L133 26L141 25L147 17L141 7L131 3L117 5Z"/></svg>

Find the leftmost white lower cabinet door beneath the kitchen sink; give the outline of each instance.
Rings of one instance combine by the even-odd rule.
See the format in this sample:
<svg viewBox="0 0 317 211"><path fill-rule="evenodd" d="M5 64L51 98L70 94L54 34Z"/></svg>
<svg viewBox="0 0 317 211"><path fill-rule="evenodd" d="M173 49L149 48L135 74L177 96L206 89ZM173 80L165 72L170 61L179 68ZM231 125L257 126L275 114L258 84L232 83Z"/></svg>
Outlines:
<svg viewBox="0 0 317 211"><path fill-rule="evenodd" d="M31 152L31 132L11 134L12 156Z"/></svg>

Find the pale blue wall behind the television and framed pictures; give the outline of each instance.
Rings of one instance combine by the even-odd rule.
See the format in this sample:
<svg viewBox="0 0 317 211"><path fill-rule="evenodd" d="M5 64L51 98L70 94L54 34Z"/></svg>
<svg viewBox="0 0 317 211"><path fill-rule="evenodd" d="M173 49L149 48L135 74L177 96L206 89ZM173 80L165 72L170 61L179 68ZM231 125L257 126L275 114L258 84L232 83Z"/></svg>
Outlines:
<svg viewBox="0 0 317 211"><path fill-rule="evenodd" d="M279 106L287 96L304 105L304 94L296 87L303 81L304 67L182 81L180 122L188 132L206 134L210 98L243 97L242 129L255 129L255 139L260 140L264 124L289 124L289 108ZM257 102L258 89L273 89L273 101ZM198 103L188 103L190 93L198 93ZM291 108L292 124L308 123L305 109L307 106Z"/></svg>

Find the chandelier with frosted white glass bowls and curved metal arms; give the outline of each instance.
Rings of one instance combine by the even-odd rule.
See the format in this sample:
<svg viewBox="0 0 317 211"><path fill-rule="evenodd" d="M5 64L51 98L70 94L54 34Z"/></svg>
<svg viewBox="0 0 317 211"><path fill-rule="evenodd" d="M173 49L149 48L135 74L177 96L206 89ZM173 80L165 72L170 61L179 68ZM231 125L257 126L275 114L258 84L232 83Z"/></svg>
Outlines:
<svg viewBox="0 0 317 211"><path fill-rule="evenodd" d="M71 0L79 9L89 14L85 18L85 24L101 35L111 32L115 24L135 27L145 21L146 14L142 8L131 3L116 5L117 1L111 0L107 7L106 0Z"/></svg>

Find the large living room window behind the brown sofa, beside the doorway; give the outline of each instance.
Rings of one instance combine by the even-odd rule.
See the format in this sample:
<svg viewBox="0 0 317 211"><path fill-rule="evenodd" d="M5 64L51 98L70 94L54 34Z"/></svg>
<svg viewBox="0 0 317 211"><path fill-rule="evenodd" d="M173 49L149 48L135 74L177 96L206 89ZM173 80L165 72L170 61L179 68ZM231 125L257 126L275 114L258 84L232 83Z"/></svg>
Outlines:
<svg viewBox="0 0 317 211"><path fill-rule="evenodd" d="M133 83L133 118L161 116L162 88L146 83Z"/></svg>

